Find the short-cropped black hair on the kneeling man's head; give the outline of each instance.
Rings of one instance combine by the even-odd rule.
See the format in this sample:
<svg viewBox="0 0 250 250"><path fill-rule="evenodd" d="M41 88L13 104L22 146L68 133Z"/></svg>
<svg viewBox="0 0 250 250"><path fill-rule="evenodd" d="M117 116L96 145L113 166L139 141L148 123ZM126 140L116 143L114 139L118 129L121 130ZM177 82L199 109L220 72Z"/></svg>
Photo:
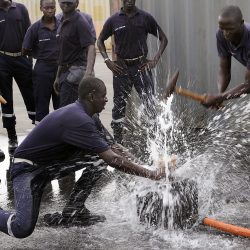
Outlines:
<svg viewBox="0 0 250 250"><path fill-rule="evenodd" d="M103 91L103 89L106 89L105 84L102 80L96 78L96 77L87 77L84 78L78 88L78 96L79 99L85 100L86 97L90 93L99 93Z"/></svg>

